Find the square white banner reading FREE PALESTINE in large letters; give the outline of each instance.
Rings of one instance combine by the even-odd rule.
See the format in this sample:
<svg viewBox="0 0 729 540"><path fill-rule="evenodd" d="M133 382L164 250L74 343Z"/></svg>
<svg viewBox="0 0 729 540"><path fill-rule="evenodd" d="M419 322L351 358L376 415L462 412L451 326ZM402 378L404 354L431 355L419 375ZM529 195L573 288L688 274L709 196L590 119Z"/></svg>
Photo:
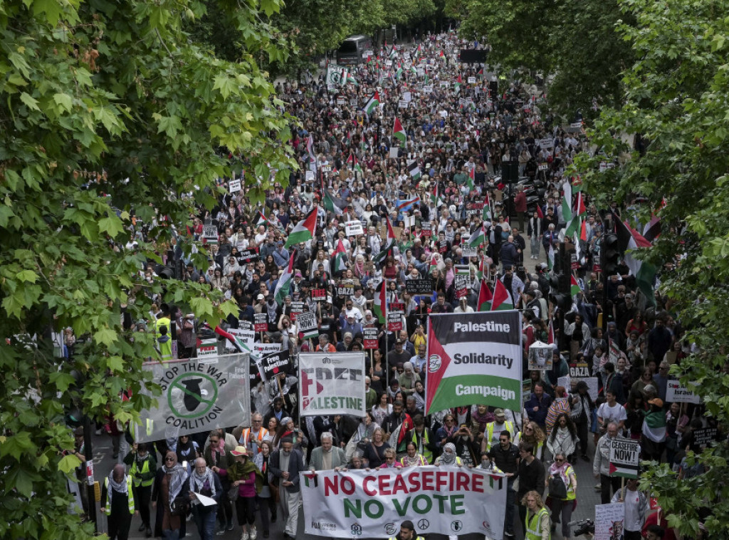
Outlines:
<svg viewBox="0 0 729 540"><path fill-rule="evenodd" d="M364 417L364 351L299 355L301 416Z"/></svg>

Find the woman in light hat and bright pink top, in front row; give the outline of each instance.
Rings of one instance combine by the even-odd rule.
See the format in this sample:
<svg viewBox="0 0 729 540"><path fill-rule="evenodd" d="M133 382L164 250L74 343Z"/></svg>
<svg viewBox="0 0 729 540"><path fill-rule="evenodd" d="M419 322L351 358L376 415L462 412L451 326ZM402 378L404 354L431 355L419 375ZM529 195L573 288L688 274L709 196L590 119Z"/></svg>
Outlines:
<svg viewBox="0 0 729 540"><path fill-rule="evenodd" d="M227 469L220 469L220 474L230 478L230 487L238 487L235 513L238 514L238 525L243 528L241 540L256 540L256 495L262 490L263 475L248 459L246 447L235 447L230 453L235 456L234 461Z"/></svg>

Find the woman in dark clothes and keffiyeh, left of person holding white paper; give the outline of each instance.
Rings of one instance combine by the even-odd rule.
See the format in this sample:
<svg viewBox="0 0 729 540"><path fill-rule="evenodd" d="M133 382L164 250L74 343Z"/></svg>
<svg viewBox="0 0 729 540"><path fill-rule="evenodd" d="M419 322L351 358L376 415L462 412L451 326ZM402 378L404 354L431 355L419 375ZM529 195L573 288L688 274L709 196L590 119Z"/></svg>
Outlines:
<svg viewBox="0 0 729 540"><path fill-rule="evenodd" d="M157 509L155 536L162 536L166 540L177 540L184 536L185 520L173 512L173 505L177 497L184 498L182 488L185 480L187 471L177 463L177 454L167 452L152 488L152 508Z"/></svg>

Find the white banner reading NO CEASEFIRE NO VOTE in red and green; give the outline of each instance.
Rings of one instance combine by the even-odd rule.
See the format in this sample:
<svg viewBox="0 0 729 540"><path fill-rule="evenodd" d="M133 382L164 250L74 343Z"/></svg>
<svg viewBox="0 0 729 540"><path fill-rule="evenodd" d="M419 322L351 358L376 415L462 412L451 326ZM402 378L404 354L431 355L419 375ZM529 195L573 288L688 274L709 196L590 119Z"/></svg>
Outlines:
<svg viewBox="0 0 729 540"><path fill-rule="evenodd" d="M305 533L331 538L478 533L501 540L507 482L475 468L405 467L301 473Z"/></svg>

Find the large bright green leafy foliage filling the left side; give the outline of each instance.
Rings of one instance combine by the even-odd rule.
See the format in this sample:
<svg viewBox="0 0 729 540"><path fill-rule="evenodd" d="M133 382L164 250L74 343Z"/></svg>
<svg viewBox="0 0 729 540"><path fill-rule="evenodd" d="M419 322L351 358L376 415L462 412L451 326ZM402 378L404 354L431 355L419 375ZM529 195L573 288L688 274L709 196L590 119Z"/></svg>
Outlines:
<svg viewBox="0 0 729 540"><path fill-rule="evenodd" d="M254 197L269 171L285 182L295 164L283 146L291 119L255 61L285 58L259 22L281 4L236 5L251 53L229 63L182 31L183 20L203 15L195 1L0 3L1 538L90 536L67 513L66 474L78 461L60 453L73 448L64 412L76 402L123 423L150 405L139 390L152 340L124 331L120 311L144 317L148 293L162 290L140 270L160 261L170 223L189 223L185 195L214 203L214 179L231 167L216 150L241 156ZM123 249L133 214L157 218L139 252ZM183 247L190 252L190 242ZM195 258L206 267L204 255ZM166 285L167 301L211 323L230 312L209 290ZM88 339L60 364L48 338L69 326ZM122 390L133 398L122 402Z"/></svg>

